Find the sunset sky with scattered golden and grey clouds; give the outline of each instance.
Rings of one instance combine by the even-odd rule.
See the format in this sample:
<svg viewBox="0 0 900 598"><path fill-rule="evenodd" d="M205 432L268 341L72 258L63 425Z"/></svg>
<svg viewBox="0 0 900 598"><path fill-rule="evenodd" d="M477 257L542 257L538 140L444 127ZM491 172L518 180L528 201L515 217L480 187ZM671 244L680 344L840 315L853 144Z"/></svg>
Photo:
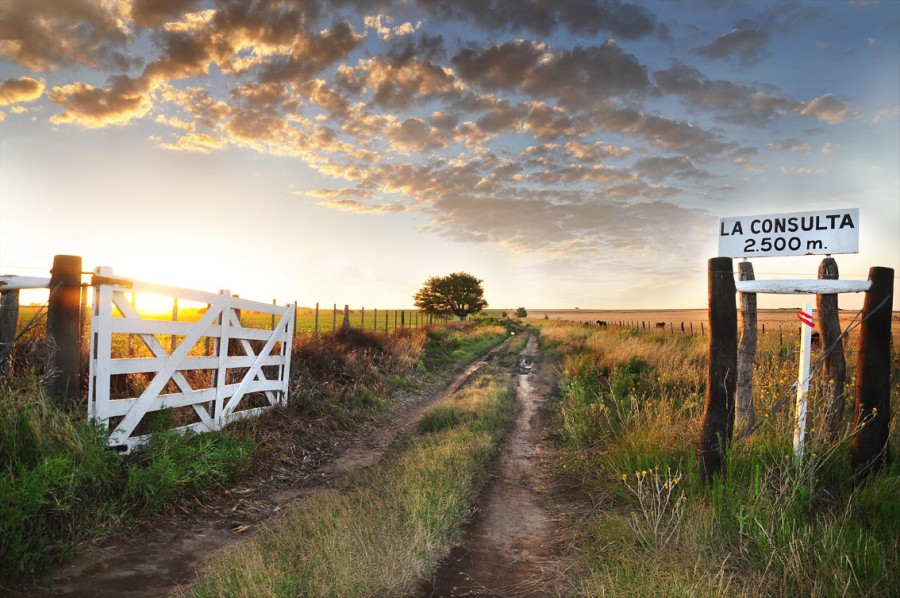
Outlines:
<svg viewBox="0 0 900 598"><path fill-rule="evenodd" d="M900 268L894 0L0 0L0 274L702 308L720 218L852 208Z"/></svg>

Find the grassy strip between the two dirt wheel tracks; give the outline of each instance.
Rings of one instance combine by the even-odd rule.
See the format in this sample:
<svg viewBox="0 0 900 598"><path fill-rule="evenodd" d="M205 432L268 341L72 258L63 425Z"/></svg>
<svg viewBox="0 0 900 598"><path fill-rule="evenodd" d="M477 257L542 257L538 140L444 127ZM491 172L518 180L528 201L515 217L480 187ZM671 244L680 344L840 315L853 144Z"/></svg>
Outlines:
<svg viewBox="0 0 900 598"><path fill-rule="evenodd" d="M224 551L192 596L396 596L455 543L514 415L508 375L428 410L414 436L340 490Z"/></svg>

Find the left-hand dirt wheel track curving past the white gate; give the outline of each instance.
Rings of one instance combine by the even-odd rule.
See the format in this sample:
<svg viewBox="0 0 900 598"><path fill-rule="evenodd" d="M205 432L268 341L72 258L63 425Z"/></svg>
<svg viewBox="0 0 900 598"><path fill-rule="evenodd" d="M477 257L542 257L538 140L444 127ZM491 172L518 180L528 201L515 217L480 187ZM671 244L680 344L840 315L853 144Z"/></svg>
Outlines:
<svg viewBox="0 0 900 598"><path fill-rule="evenodd" d="M306 467L306 458L275 455L274 458L288 460L288 467L278 475L245 480L215 504L193 505L184 513L176 511L156 518L155 527L144 526L132 534L108 538L43 583L10 590L8 595L147 598L169 594L180 584L190 582L210 556L247 537L292 502L337 484L348 473L378 461L395 438L415 426L429 405L456 392L505 345L474 362L449 385L408 397L402 410L368 433L330 439L328 442L335 446L317 453L318 462ZM3 592L7 595L6 589Z"/></svg>

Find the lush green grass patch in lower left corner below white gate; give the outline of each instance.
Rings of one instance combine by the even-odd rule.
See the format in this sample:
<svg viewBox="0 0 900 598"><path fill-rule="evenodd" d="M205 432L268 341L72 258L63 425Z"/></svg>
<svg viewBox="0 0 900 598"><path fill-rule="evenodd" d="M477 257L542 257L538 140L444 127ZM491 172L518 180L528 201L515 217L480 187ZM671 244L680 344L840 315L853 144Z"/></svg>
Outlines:
<svg viewBox="0 0 900 598"><path fill-rule="evenodd" d="M247 440L172 431L126 459L83 418L60 409L36 375L0 387L0 579L35 573L85 537L225 485L250 462Z"/></svg>

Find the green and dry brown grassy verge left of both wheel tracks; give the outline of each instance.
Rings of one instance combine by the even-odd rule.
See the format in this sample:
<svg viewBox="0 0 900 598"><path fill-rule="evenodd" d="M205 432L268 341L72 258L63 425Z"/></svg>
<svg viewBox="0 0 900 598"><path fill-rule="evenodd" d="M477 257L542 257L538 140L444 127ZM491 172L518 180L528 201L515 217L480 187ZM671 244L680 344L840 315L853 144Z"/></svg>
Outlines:
<svg viewBox="0 0 900 598"><path fill-rule="evenodd" d="M277 435L294 433L280 425L284 418L314 418L327 435L384 417L396 393L420 389L505 337L503 327L472 324L431 337L423 329L299 337L291 404L269 415L277 425L255 420L222 433L176 434L169 430L176 410L157 412L154 429L161 432L128 458L106 447L80 408L71 412L47 396L40 374L46 347L17 345L14 375L0 384L0 582L40 574L79 542L227 487L251 464L264 469L278 450ZM426 370L431 351L442 357ZM444 360L448 351L457 358Z"/></svg>

